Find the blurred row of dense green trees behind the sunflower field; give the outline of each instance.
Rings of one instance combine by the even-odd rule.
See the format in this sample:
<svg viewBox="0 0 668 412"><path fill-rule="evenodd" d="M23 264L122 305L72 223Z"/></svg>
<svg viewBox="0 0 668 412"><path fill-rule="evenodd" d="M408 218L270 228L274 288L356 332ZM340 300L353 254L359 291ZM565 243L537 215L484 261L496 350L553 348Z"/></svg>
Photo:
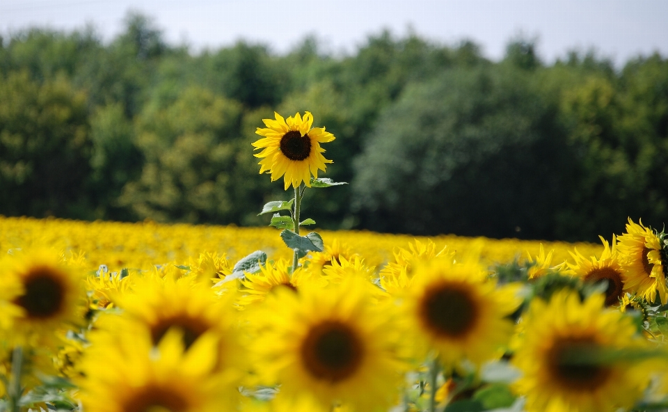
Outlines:
<svg viewBox="0 0 668 412"><path fill-rule="evenodd" d="M312 38L193 54L129 15L94 31L31 29L0 43L0 214L263 225L283 193L248 148L258 118L310 110L337 140L309 193L324 228L594 240L668 212L668 59L616 70L546 65L511 42L370 37L354 54ZM272 192L273 191L273 192Z"/></svg>

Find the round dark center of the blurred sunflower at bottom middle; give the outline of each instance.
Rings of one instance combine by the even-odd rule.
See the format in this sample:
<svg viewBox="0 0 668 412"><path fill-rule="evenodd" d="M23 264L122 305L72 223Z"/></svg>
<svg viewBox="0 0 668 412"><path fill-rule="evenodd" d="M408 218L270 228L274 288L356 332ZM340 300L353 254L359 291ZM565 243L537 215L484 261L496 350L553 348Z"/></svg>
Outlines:
<svg viewBox="0 0 668 412"><path fill-rule="evenodd" d="M301 345L304 367L316 379L342 381L355 374L364 356L355 331L340 322L324 322L311 328Z"/></svg>

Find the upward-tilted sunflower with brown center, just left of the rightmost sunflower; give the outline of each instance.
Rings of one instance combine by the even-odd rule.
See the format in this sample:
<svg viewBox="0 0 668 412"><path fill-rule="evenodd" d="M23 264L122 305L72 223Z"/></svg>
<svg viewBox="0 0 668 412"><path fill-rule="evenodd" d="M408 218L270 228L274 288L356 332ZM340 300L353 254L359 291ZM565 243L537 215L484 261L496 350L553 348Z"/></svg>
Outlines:
<svg viewBox="0 0 668 412"><path fill-rule="evenodd" d="M568 264L567 274L578 276L584 283L600 283L607 282L605 289L605 306L619 306L620 299L626 294L625 283L626 276L619 267L617 259L617 250L615 244L617 239L612 237L612 248L607 240L601 237L603 242L603 253L601 258L591 257L591 261L587 260L575 249L575 253L571 252L571 256L575 259L575 264Z"/></svg>

